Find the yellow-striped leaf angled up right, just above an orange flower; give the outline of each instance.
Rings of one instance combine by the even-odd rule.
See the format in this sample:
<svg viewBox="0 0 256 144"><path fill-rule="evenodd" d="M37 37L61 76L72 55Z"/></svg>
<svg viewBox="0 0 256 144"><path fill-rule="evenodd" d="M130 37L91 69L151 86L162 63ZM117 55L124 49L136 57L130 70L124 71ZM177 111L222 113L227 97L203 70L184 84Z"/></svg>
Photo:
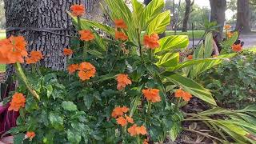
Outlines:
<svg viewBox="0 0 256 144"><path fill-rule="evenodd" d="M162 34L166 31L166 26L168 25L170 25L170 10L158 14L158 16L150 22L147 34Z"/></svg>

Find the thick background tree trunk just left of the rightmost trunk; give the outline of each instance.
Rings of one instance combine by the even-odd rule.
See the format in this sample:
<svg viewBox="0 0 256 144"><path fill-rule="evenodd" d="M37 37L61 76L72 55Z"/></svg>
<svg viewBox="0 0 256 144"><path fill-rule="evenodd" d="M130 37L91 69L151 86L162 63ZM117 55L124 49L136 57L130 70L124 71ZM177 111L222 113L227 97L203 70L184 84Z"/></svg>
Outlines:
<svg viewBox="0 0 256 144"><path fill-rule="evenodd" d="M215 33L218 41L222 39L223 26L225 22L226 0L210 0L210 22L217 22L220 27Z"/></svg>

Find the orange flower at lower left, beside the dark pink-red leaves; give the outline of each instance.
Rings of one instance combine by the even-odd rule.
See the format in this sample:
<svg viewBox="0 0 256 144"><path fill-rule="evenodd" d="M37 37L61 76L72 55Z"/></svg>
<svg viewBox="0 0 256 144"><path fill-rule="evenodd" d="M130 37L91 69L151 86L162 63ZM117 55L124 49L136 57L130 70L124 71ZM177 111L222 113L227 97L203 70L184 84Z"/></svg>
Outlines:
<svg viewBox="0 0 256 144"><path fill-rule="evenodd" d="M15 93L10 102L8 110L18 111L21 107L25 107L26 98L22 93Z"/></svg>

